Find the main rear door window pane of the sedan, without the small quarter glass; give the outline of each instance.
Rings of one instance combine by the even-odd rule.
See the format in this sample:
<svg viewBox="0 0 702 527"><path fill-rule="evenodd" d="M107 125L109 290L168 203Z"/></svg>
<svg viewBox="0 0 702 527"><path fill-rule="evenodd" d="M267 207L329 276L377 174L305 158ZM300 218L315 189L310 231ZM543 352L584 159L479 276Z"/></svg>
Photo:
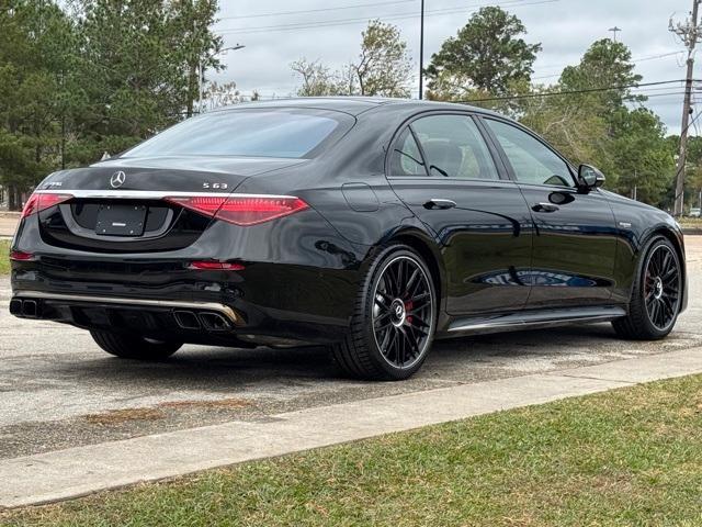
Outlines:
<svg viewBox="0 0 702 527"><path fill-rule="evenodd" d="M475 121L467 115L430 115L411 124L429 173L458 179L499 179Z"/></svg>

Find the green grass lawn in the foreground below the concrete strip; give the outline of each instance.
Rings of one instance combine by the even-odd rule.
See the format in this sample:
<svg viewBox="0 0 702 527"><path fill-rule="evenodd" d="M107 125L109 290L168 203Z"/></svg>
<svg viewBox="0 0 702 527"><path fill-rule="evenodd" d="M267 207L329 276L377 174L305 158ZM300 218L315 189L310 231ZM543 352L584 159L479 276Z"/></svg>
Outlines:
<svg viewBox="0 0 702 527"><path fill-rule="evenodd" d="M698 526L701 408L695 375L0 513L0 523Z"/></svg>

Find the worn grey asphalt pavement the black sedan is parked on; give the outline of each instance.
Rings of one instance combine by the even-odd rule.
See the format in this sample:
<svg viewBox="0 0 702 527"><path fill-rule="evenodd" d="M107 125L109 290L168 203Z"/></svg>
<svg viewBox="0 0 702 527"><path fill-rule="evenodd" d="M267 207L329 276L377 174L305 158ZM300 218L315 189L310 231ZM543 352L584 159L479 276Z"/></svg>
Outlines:
<svg viewBox="0 0 702 527"><path fill-rule="evenodd" d="M700 346L702 236L687 244L690 309L664 341L618 340L609 324L446 340L437 343L418 375L401 383L341 379L319 348L185 346L163 363L115 359L84 332L10 316L4 278L0 458Z"/></svg>

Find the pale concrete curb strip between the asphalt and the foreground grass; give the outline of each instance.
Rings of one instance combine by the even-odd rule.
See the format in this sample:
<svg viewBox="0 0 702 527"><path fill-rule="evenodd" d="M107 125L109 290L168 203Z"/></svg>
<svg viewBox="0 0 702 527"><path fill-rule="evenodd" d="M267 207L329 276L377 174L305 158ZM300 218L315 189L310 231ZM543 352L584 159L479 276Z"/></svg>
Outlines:
<svg viewBox="0 0 702 527"><path fill-rule="evenodd" d="M0 460L0 507L101 490L702 372L702 348L358 401Z"/></svg>

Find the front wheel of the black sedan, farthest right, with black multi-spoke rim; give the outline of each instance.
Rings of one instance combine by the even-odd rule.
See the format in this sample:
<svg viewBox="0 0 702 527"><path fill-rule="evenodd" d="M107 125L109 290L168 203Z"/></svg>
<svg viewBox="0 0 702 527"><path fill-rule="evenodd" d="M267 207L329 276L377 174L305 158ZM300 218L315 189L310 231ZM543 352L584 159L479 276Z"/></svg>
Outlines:
<svg viewBox="0 0 702 527"><path fill-rule="evenodd" d="M612 326L622 338L661 339L676 324L681 295L682 267L678 251L667 238L657 236L648 243L638 262L629 315L612 322Z"/></svg>

